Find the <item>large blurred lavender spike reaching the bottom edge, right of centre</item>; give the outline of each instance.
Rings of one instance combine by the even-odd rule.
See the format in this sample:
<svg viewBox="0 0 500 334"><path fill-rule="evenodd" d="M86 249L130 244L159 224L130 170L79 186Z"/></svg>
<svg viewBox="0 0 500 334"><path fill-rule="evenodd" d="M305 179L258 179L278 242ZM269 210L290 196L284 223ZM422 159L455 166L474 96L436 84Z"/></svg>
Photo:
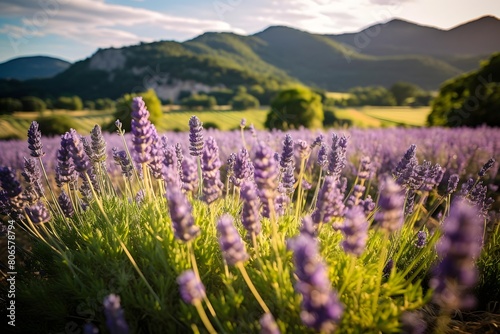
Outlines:
<svg viewBox="0 0 500 334"><path fill-rule="evenodd" d="M343 307L332 291L317 241L307 234L300 234L288 245L293 251L295 274L299 279L295 290L302 294L302 322L316 331L333 332L340 322Z"/></svg>

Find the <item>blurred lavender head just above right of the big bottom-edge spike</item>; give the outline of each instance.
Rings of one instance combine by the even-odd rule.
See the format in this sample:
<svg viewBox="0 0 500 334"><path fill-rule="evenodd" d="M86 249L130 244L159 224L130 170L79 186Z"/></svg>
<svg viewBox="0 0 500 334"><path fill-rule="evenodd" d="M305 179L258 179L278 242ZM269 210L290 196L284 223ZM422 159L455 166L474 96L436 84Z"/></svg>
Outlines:
<svg viewBox="0 0 500 334"><path fill-rule="evenodd" d="M346 253L356 256L363 253L368 240L368 228L369 224L360 206L354 206L346 212L341 228L344 235L342 247Z"/></svg>

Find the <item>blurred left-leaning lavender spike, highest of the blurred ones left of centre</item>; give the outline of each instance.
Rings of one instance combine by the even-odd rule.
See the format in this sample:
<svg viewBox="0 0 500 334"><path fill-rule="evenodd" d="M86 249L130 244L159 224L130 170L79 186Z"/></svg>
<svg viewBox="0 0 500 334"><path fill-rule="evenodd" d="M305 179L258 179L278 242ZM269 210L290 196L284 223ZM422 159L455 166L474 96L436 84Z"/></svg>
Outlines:
<svg viewBox="0 0 500 334"><path fill-rule="evenodd" d="M171 187L167 193L168 208L174 235L184 242L195 239L200 234L200 228L194 225L193 208L186 196L177 188Z"/></svg>

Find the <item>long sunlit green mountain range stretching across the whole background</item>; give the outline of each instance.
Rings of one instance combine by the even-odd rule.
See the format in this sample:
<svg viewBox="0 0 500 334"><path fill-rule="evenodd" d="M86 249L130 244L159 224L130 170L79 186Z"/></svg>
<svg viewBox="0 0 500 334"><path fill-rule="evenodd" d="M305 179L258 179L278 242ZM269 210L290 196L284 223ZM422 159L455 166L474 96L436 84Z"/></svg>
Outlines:
<svg viewBox="0 0 500 334"><path fill-rule="evenodd" d="M79 95L117 98L156 90L163 99L182 91L289 84L346 91L408 81L436 90L500 51L500 21L483 17L450 30L395 19L359 33L311 34L272 26L250 36L207 32L186 42L160 41L99 49L50 79L0 82L0 96Z"/></svg>

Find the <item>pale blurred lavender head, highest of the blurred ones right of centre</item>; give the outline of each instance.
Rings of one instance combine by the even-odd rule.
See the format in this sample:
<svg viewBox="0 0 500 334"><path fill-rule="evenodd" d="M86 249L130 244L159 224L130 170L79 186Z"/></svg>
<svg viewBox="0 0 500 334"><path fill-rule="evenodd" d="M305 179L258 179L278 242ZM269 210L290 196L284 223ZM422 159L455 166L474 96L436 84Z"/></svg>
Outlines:
<svg viewBox="0 0 500 334"><path fill-rule="evenodd" d="M403 225L404 196L401 187L392 178L386 177L380 182L380 210L375 214L375 220L380 228L389 233L398 230Z"/></svg>

